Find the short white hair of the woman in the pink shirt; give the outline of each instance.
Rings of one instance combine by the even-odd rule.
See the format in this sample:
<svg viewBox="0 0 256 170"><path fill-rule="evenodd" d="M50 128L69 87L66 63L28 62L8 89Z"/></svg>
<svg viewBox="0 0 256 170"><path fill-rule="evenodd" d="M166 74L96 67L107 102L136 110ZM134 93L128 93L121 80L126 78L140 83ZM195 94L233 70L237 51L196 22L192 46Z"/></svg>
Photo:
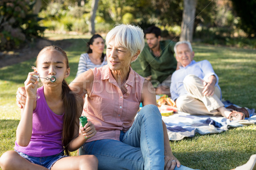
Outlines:
<svg viewBox="0 0 256 170"><path fill-rule="evenodd" d="M134 56L138 50L142 52L145 45L144 33L139 26L117 24L108 32L105 40L106 45L113 38L116 45L127 48L131 56Z"/></svg>

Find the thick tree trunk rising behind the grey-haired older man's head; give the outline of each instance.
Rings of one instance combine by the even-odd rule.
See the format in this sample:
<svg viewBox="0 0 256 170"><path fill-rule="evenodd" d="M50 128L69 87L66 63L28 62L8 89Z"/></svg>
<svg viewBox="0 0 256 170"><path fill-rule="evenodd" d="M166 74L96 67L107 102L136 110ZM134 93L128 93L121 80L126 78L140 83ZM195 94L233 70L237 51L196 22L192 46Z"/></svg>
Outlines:
<svg viewBox="0 0 256 170"><path fill-rule="evenodd" d="M184 0L180 41L187 40L192 42L197 1L198 0Z"/></svg>

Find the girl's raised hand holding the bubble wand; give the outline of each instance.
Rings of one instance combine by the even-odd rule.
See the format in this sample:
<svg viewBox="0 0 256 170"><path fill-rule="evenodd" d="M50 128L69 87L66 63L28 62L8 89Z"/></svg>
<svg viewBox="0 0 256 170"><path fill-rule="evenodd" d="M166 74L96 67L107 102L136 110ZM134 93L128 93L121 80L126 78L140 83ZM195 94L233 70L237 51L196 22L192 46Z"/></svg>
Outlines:
<svg viewBox="0 0 256 170"><path fill-rule="evenodd" d="M26 97L29 99L35 99L36 98L36 91L38 88L38 81L37 77L33 75L39 75L37 72L30 72L26 81L24 82L25 89L26 89Z"/></svg>

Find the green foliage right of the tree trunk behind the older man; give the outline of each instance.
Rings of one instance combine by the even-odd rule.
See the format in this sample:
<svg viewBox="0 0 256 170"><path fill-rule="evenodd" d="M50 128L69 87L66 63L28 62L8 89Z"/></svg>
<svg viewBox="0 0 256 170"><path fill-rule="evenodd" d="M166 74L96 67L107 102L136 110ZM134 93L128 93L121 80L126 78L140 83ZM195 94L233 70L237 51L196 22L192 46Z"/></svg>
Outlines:
<svg viewBox="0 0 256 170"><path fill-rule="evenodd" d="M201 0L200 0L201 1ZM201 16L196 16L194 41L215 45L255 48L256 38L246 38L246 33L240 29L241 18L233 14L231 1L199 2L203 8ZM239 3L241 3L239 1ZM202 6L203 4L203 6ZM200 10L199 10L200 11Z"/></svg>

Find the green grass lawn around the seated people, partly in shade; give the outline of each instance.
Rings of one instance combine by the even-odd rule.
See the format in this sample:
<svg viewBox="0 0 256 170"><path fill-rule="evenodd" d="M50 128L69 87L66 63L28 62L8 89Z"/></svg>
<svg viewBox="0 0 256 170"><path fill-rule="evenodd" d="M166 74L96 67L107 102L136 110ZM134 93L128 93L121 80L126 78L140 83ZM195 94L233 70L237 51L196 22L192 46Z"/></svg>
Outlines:
<svg viewBox="0 0 256 170"><path fill-rule="evenodd" d="M47 37L61 39L62 35L47 34ZM71 46L64 49L70 62L71 74L75 76L81 53L85 52L86 36L65 36ZM51 38L52 39L52 38ZM216 47L192 44L195 60L207 59L219 76L219 85L225 100L247 108L256 108L256 51L252 49ZM38 51L39 52L39 51ZM0 68L0 156L13 150L15 131L20 119L16 106L17 88L23 86L35 59ZM141 74L139 62L132 63ZM170 141L172 151L180 162L201 170L229 170L247 162L256 153L256 125L238 127L223 133L196 135L181 141ZM76 152L72 153L76 155Z"/></svg>

